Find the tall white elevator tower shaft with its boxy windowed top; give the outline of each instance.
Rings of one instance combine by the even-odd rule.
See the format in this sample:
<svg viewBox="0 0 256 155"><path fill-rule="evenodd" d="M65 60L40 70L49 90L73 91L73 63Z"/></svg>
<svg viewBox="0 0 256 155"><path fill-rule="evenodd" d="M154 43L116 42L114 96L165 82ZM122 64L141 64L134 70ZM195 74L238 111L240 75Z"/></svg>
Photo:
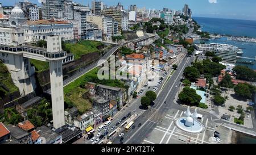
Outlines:
<svg viewBox="0 0 256 155"><path fill-rule="evenodd" d="M62 48L60 36L47 36L47 52L52 53L52 56L54 56L53 59L48 61L52 94L53 127L57 129L65 124L62 75L63 57L61 57ZM56 54L58 52L60 52L59 55Z"/></svg>

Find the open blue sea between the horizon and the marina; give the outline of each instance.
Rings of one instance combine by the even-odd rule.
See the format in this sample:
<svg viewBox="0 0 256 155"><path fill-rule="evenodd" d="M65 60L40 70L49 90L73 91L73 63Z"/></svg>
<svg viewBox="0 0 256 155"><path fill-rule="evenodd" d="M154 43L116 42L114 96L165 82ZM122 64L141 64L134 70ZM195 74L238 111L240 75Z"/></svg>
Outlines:
<svg viewBox="0 0 256 155"><path fill-rule="evenodd" d="M256 37L256 20L193 17L203 31L221 35Z"/></svg>

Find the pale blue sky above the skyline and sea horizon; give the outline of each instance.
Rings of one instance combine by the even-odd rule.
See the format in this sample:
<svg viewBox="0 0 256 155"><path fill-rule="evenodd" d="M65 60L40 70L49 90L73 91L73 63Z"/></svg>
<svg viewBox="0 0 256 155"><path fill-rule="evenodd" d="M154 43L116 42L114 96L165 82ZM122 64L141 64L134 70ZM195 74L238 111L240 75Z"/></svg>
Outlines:
<svg viewBox="0 0 256 155"><path fill-rule="evenodd" d="M38 3L38 0L29 0ZM91 0L73 0L84 5L91 5ZM14 5L15 0L1 0L2 5ZM18 0L16 0L18 2ZM103 0L105 4L117 5L121 2L125 8L131 4L147 9L170 9L181 10L185 3L192 9L193 16L212 18L232 18L256 20L255 0ZM211 3L210 3L211 2Z"/></svg>

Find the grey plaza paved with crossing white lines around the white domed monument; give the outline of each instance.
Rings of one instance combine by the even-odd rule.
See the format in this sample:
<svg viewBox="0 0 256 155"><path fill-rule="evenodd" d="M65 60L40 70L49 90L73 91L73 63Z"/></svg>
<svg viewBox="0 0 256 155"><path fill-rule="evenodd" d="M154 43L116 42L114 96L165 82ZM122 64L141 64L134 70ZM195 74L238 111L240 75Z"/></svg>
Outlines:
<svg viewBox="0 0 256 155"><path fill-rule="evenodd" d="M183 111L170 110L164 117L161 123L148 134L144 139L144 144L218 144L218 143L231 143L232 131L228 128L218 126L216 123L208 118L199 120L204 125L203 131L200 133L188 133L177 128L175 120L184 116ZM220 141L214 138L214 132L217 131ZM216 134L217 134L216 132Z"/></svg>

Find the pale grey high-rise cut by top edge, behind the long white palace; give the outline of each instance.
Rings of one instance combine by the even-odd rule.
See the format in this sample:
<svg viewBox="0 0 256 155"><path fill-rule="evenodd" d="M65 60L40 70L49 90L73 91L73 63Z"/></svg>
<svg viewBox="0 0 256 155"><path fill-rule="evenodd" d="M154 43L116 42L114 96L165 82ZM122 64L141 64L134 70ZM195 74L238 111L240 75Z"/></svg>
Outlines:
<svg viewBox="0 0 256 155"><path fill-rule="evenodd" d="M65 0L44 0L43 19L63 18Z"/></svg>

